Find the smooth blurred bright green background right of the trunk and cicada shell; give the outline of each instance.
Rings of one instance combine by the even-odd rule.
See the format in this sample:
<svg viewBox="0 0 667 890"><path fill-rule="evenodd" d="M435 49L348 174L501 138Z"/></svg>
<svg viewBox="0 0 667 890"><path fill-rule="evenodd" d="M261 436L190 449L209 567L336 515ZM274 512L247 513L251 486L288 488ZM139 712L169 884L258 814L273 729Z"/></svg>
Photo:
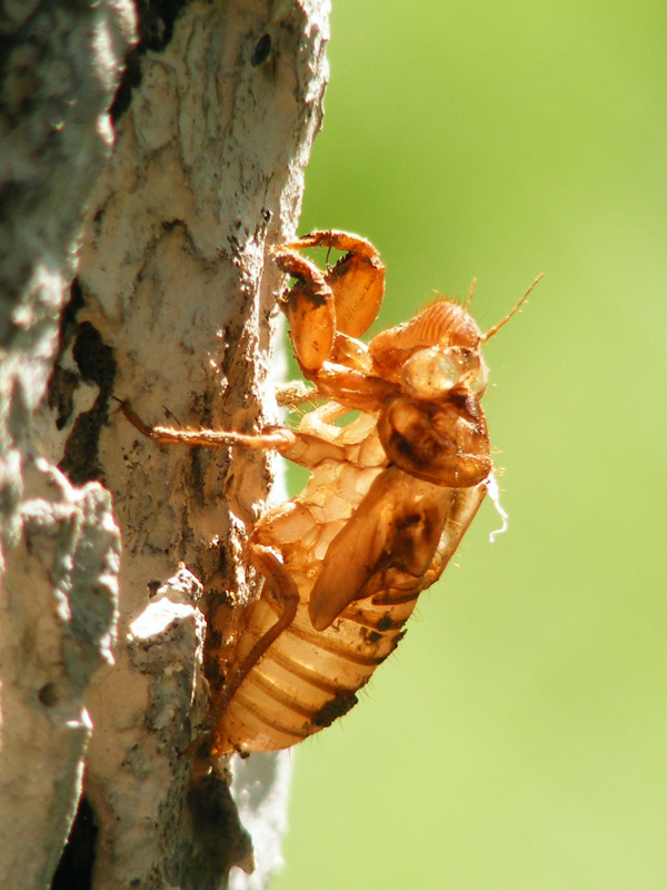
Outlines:
<svg viewBox="0 0 667 890"><path fill-rule="evenodd" d="M485 506L397 654L295 750L272 890L667 888L667 4L334 0L300 230L482 328Z"/></svg>

